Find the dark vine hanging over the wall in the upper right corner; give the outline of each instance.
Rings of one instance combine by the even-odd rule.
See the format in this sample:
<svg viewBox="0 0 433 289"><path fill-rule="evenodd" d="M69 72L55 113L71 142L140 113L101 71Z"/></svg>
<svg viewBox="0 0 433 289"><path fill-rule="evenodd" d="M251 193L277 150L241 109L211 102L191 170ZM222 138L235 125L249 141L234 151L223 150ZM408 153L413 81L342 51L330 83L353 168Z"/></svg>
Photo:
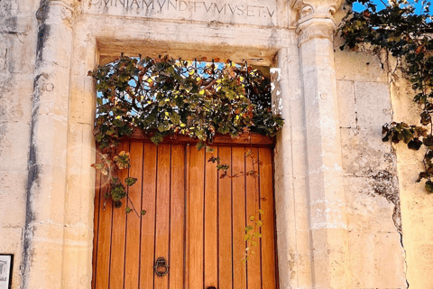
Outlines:
<svg viewBox="0 0 433 289"><path fill-rule="evenodd" d="M424 149L423 170L417 182L425 181L425 189L433 193L433 33L430 3L426 0L381 1L378 9L373 0L346 0L364 5L362 12L349 11L339 33L345 39L342 50L362 50L365 44L378 55L392 56L395 68L410 80L415 93L413 101L421 109L419 125L391 122L382 127L382 140L407 144L411 150Z"/></svg>

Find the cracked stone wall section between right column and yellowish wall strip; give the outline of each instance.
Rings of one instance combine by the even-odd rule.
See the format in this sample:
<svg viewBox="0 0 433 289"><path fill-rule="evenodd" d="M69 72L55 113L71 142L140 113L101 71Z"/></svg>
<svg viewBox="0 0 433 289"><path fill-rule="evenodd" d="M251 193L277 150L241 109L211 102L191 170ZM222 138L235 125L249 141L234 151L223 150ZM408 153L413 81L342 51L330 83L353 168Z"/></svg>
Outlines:
<svg viewBox="0 0 433 289"><path fill-rule="evenodd" d="M342 43L335 58L352 288L407 288L397 159L382 143L390 81L377 57L340 51Z"/></svg>

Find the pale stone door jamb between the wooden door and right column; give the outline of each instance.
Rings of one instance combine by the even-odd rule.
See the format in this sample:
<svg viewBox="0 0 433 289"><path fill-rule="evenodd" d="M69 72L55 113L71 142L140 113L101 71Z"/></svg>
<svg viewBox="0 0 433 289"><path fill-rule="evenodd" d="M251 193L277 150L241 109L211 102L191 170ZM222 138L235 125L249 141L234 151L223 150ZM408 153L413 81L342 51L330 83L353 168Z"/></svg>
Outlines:
<svg viewBox="0 0 433 289"><path fill-rule="evenodd" d="M278 52L272 101L284 118L275 147L275 210L281 288L311 288L309 194L304 99L297 35Z"/></svg>

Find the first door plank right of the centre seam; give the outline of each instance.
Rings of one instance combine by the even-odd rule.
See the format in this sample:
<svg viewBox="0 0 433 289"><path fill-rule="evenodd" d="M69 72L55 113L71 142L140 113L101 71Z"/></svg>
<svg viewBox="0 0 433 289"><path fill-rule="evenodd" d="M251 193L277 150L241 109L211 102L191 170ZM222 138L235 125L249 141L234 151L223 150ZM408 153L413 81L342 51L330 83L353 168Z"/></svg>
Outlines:
<svg viewBox="0 0 433 289"><path fill-rule="evenodd" d="M205 150L189 151L189 289L203 288ZM206 274L206 272L205 272Z"/></svg>

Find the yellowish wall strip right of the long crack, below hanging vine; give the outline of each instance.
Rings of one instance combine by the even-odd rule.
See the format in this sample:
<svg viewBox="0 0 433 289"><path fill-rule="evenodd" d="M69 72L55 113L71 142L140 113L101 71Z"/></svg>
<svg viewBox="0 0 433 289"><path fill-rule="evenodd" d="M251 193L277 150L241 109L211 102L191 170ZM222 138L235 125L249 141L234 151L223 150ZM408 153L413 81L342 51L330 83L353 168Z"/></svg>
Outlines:
<svg viewBox="0 0 433 289"><path fill-rule="evenodd" d="M410 83L398 75L391 86L393 120L419 126L419 107ZM430 288L433 284L433 195L417 183L423 170L424 152L411 151L406 144L394 145L401 198L401 225L406 272L410 288Z"/></svg>

